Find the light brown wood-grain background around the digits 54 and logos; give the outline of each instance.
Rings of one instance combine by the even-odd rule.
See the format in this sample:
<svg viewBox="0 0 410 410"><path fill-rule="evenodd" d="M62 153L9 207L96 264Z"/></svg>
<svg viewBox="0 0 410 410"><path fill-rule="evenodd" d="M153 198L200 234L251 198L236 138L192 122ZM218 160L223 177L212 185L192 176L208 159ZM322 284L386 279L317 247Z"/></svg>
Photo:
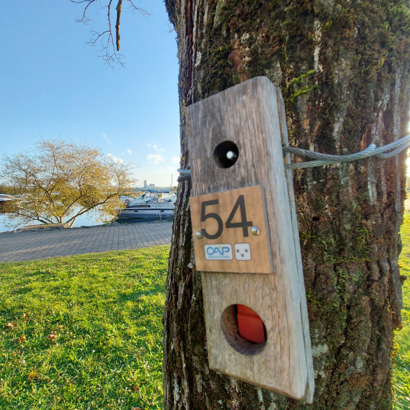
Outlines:
<svg viewBox="0 0 410 410"><path fill-rule="evenodd" d="M242 228L226 228L232 209L239 195L243 195L246 205L246 219L252 221L252 226L260 229L259 235L252 235L248 228L248 236L243 236ZM263 200L263 192L260 185L248 188L218 192L214 194L200 195L190 198L192 232L195 248L195 265L198 271L208 272L238 272L238 273L272 273L271 252L269 250L269 234L266 223L266 211ZM206 232L214 234L218 230L216 219L208 218L201 222L202 201L218 200L218 204L206 207L207 213L216 213L223 222L221 235L216 239L202 237L197 239L196 231L206 229ZM233 222L239 222L239 209L235 213ZM232 260L207 260L204 245L229 243L232 245ZM251 260L237 260L234 245L236 243L249 243Z"/></svg>

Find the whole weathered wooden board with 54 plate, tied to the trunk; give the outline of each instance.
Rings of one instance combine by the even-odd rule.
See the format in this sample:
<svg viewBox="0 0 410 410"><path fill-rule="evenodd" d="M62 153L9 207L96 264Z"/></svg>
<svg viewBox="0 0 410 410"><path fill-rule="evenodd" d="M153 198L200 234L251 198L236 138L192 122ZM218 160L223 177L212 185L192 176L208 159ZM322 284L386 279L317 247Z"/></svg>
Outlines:
<svg viewBox="0 0 410 410"><path fill-rule="evenodd" d="M281 92L256 77L185 112L209 368L311 403L313 358ZM243 317L252 329L262 322L263 342L249 339L250 327L248 339L241 333Z"/></svg>

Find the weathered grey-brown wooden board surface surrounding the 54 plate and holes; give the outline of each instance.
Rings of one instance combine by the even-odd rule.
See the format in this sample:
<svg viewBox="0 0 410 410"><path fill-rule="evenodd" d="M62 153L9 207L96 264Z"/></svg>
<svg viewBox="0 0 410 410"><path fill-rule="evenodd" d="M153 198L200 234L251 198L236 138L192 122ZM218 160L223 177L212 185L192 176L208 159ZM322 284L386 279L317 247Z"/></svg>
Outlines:
<svg viewBox="0 0 410 410"><path fill-rule="evenodd" d="M201 273L208 359L213 370L311 402L309 323L283 165L279 110L276 89L265 77L245 81L186 109L193 196L261 185L274 271L271 275ZM234 166L219 168L213 152L226 140L235 142L239 157ZM258 313L266 326L266 344L256 354L239 353L223 334L222 314L238 303Z"/></svg>

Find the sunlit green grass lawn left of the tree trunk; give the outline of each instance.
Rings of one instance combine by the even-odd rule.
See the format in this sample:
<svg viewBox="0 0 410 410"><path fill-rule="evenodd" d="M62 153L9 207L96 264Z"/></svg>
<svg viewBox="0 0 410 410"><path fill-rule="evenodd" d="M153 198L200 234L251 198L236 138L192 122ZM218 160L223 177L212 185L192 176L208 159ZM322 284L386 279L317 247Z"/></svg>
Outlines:
<svg viewBox="0 0 410 410"><path fill-rule="evenodd" d="M0 408L162 408L168 254L0 264Z"/></svg>

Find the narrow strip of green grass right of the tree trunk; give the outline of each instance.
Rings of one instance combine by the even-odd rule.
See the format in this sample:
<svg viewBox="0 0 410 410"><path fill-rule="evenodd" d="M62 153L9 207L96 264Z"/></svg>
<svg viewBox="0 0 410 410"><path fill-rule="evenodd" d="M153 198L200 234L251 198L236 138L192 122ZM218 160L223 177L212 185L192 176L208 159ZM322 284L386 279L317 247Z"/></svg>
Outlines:
<svg viewBox="0 0 410 410"><path fill-rule="evenodd" d="M403 329L396 332L393 381L395 385L395 410L410 409L410 214L405 214L401 226L403 250L400 254L400 274L408 279L403 285Z"/></svg>

